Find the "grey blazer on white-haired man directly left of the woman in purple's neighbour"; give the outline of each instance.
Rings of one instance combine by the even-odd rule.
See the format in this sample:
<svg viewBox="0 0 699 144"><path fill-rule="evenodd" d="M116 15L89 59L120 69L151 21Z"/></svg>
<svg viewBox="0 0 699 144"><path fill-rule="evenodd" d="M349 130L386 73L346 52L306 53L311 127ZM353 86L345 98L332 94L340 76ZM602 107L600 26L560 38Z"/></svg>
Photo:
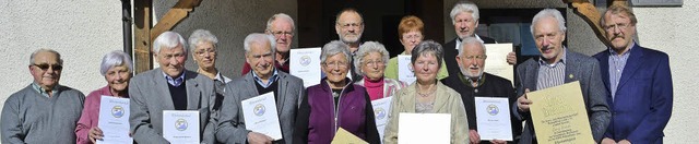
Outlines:
<svg viewBox="0 0 699 144"><path fill-rule="evenodd" d="M187 110L199 111L199 134L202 143L214 142L211 117L215 104L214 81L189 70L183 71L187 87ZM135 75L129 83L133 140L142 144L168 143L163 137L163 110L175 110L168 83L162 69Z"/></svg>

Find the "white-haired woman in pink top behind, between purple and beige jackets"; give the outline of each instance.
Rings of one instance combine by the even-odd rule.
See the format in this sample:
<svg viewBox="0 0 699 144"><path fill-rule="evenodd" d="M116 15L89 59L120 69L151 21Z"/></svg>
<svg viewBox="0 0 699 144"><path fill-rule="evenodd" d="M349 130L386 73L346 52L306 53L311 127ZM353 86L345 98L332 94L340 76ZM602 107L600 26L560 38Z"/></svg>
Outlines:
<svg viewBox="0 0 699 144"><path fill-rule="evenodd" d="M393 79L383 77L389 51L377 41L366 41L359 46L354 56L354 67L357 74L363 75L356 84L367 88L371 100L390 97L407 84Z"/></svg>

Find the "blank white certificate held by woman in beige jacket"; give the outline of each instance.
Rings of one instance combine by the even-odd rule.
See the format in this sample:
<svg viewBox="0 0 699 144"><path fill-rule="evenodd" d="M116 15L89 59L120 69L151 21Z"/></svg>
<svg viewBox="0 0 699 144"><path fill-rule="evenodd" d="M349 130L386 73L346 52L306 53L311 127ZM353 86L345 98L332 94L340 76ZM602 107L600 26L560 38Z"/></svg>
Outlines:
<svg viewBox="0 0 699 144"><path fill-rule="evenodd" d="M400 113L398 120L399 144L451 143L450 113ZM469 135L459 135L469 136Z"/></svg>

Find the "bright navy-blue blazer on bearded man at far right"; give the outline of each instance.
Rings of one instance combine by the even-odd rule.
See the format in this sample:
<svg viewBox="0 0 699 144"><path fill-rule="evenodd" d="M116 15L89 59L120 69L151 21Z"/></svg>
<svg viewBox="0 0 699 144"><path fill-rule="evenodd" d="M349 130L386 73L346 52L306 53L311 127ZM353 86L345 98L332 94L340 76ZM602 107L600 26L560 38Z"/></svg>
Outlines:
<svg viewBox="0 0 699 144"><path fill-rule="evenodd" d="M594 57L600 60L604 86L609 89L609 50ZM673 79L665 52L635 44L614 100L609 92L607 101L613 115L605 137L631 143L663 143L663 129L673 108Z"/></svg>

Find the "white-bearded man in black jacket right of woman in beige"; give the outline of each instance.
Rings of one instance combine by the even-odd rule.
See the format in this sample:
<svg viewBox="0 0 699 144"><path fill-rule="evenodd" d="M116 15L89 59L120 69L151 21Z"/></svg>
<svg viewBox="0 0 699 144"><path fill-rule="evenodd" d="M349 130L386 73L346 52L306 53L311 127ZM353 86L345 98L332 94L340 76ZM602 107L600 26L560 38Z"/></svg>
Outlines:
<svg viewBox="0 0 699 144"><path fill-rule="evenodd" d="M441 80L445 85L455 89L461 94L461 99L466 108L469 118L469 140L471 143L479 143L481 135L477 132L475 97L501 97L508 98L509 104L514 104L517 95L512 87L512 82L507 79L485 73L485 45L478 38L466 37L461 43L457 62L461 69L461 74L450 75ZM451 58L447 58L451 59ZM512 136L518 139L522 130L522 123L510 116ZM484 143L507 143L502 140L494 140Z"/></svg>

